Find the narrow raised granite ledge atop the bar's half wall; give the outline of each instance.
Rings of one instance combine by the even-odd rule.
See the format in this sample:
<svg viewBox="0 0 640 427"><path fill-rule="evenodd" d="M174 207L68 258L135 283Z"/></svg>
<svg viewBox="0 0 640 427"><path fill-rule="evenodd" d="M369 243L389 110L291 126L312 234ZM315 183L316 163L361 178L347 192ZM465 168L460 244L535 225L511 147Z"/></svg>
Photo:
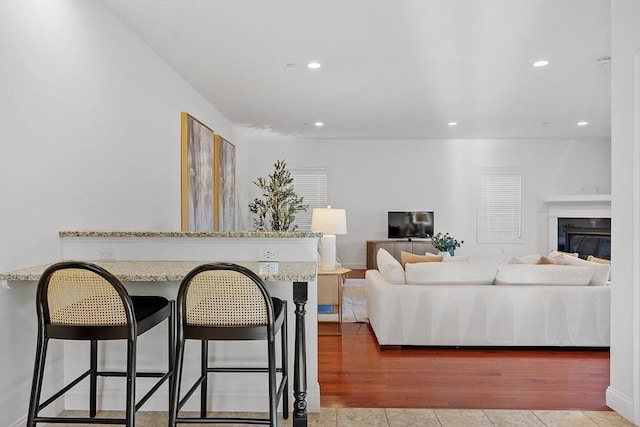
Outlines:
<svg viewBox="0 0 640 427"><path fill-rule="evenodd" d="M216 238L309 238L311 231L60 231L60 237L216 237Z"/></svg>

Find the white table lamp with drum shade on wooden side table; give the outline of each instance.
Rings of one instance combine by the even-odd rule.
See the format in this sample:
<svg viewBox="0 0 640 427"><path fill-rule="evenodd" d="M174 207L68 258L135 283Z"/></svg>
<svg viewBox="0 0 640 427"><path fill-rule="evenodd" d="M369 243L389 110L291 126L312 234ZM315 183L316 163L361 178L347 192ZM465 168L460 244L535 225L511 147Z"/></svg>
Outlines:
<svg viewBox="0 0 640 427"><path fill-rule="evenodd" d="M311 216L311 231L322 232L320 239L320 269L336 269L336 234L347 234L344 209L316 208Z"/></svg>

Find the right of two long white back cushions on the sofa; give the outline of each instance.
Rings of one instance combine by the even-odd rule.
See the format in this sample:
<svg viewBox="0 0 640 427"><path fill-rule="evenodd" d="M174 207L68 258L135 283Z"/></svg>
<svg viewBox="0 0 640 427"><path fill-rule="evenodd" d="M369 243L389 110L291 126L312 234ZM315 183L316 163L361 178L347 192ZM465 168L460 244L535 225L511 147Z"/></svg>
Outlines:
<svg viewBox="0 0 640 427"><path fill-rule="evenodd" d="M587 286L593 275L589 267L573 265L504 264L498 269L496 285Z"/></svg>

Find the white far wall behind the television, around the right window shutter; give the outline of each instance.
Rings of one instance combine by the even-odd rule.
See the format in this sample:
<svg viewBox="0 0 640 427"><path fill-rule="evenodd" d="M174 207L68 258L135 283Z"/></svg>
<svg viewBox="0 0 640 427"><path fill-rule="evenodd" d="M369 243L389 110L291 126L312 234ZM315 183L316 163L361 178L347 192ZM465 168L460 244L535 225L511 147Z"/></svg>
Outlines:
<svg viewBox="0 0 640 427"><path fill-rule="evenodd" d="M548 252L546 211L552 195L608 194L610 143L604 140L276 140L252 139L249 171L266 176L273 162L289 168L328 167L331 205L347 210L348 234L337 236L338 257L365 265L365 241L386 239L387 211L433 210L435 228L464 245L456 254L508 259ZM479 167L524 168L524 243L476 243ZM250 191L256 192L255 186ZM504 251L504 253L502 252Z"/></svg>

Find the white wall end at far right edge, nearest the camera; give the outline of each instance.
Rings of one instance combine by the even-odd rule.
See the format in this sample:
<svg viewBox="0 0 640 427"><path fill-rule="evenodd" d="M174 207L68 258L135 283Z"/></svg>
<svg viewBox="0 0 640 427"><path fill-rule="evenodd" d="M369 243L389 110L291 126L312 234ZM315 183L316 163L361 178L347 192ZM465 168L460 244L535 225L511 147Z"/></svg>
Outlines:
<svg viewBox="0 0 640 427"><path fill-rule="evenodd" d="M640 425L640 2L611 3L611 385L607 405Z"/></svg>

